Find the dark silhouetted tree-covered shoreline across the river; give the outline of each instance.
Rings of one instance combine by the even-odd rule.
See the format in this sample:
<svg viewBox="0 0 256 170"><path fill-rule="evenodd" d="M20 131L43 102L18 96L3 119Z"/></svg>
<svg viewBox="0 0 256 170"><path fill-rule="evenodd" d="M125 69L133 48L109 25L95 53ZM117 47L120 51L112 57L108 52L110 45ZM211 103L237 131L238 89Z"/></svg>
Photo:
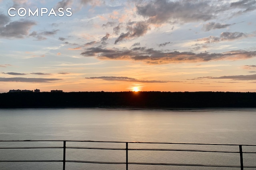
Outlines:
<svg viewBox="0 0 256 170"><path fill-rule="evenodd" d="M255 108L255 92L13 92L0 108Z"/></svg>

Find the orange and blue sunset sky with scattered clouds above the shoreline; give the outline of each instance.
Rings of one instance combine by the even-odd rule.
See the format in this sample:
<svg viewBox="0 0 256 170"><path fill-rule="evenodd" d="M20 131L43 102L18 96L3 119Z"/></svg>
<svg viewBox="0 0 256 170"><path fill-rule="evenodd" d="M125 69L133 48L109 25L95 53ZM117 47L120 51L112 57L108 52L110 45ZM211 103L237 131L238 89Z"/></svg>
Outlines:
<svg viewBox="0 0 256 170"><path fill-rule="evenodd" d="M256 92L255 42L256 0L0 0L0 93Z"/></svg>

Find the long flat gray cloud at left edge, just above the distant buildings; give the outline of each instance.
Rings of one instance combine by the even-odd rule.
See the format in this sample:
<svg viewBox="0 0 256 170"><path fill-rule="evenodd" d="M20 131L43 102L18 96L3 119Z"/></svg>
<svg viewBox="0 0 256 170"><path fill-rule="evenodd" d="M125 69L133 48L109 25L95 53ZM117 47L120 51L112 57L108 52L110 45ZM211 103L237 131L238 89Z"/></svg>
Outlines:
<svg viewBox="0 0 256 170"><path fill-rule="evenodd" d="M12 78L0 78L0 82L39 82L47 83L56 80L62 80L60 78L23 78L23 77L12 77Z"/></svg>

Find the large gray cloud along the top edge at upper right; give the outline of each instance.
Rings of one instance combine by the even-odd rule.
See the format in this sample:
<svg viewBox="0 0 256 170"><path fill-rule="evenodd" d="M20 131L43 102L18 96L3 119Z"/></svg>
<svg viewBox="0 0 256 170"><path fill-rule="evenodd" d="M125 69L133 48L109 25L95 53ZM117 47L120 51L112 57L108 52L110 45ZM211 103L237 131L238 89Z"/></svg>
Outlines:
<svg viewBox="0 0 256 170"><path fill-rule="evenodd" d="M139 1L138 3L136 5L137 13L148 18L148 22L154 24L177 20L182 22L208 21L230 9L241 10L238 14L256 9L255 0L240 0L231 3L220 0L218 3L208 0L152 0L146 3ZM221 6L220 3L222 3ZM215 26L218 27L218 25Z"/></svg>

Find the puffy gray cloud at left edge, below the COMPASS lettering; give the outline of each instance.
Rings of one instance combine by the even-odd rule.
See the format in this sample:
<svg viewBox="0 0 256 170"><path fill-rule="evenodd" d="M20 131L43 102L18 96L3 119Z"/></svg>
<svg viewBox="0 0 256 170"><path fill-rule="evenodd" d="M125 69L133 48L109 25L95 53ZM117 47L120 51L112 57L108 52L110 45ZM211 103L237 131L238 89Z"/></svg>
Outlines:
<svg viewBox="0 0 256 170"><path fill-rule="evenodd" d="M13 21L0 27L0 37L6 38L24 38L29 34L32 26L36 25L34 21ZM18 28L18 29L17 29Z"/></svg>

